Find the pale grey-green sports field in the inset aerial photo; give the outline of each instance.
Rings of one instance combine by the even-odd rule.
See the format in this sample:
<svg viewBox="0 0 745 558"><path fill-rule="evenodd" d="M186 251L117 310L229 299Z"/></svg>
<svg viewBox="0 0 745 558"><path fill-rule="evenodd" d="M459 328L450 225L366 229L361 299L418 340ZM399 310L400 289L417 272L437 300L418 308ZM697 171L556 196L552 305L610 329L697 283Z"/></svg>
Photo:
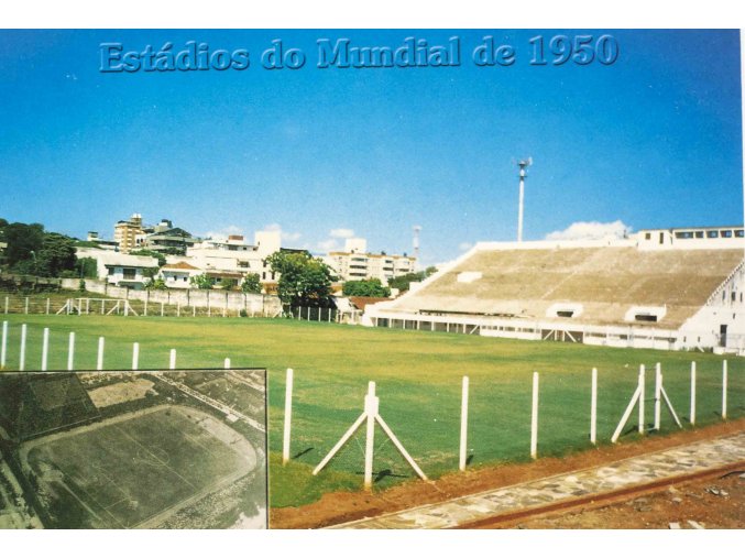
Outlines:
<svg viewBox="0 0 745 558"><path fill-rule="evenodd" d="M57 528L130 528L161 521L189 499L256 466L256 455L218 439L186 407L53 435L22 448ZM161 523L155 519L154 525Z"/></svg>

